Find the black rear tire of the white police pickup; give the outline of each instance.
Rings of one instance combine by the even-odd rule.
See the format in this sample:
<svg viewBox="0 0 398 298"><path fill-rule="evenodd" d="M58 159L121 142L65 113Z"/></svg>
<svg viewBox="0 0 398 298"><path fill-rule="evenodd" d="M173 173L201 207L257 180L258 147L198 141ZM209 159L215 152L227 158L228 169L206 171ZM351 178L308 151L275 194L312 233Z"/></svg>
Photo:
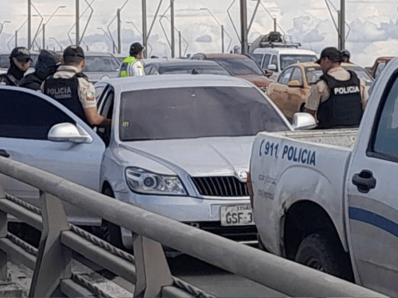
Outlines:
<svg viewBox="0 0 398 298"><path fill-rule="evenodd" d="M354 281L351 262L337 236L314 233L298 245L295 261L316 270Z"/></svg>

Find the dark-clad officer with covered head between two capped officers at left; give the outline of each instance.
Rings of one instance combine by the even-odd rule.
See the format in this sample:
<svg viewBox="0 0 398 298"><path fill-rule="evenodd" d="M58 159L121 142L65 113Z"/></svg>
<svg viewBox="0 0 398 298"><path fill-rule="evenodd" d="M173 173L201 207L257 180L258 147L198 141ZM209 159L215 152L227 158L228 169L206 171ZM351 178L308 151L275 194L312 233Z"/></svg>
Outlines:
<svg viewBox="0 0 398 298"><path fill-rule="evenodd" d="M61 55L56 52L41 50L35 65L35 72L25 75L20 81L19 86L32 90L40 90L43 80L56 72L61 65Z"/></svg>

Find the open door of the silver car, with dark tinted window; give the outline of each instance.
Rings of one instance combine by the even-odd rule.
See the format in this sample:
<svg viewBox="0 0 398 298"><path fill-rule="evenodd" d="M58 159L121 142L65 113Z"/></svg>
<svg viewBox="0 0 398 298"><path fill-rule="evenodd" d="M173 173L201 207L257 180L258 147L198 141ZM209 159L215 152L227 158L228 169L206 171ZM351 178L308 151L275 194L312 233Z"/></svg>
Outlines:
<svg viewBox="0 0 398 298"><path fill-rule="evenodd" d="M0 150L2 155L99 190L100 165L105 145L81 119L55 100L22 88L0 87ZM79 124L91 143L55 142L47 139L59 123ZM1 176L5 191L39 206L37 189ZM83 224L86 211L66 206L75 223Z"/></svg>

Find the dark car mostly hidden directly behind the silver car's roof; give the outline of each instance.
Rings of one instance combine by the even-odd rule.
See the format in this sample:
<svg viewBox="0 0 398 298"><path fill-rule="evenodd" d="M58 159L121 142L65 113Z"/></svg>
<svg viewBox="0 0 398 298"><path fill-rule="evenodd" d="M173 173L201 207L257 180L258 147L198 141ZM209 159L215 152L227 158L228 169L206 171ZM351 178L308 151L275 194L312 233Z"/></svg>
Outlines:
<svg viewBox="0 0 398 298"><path fill-rule="evenodd" d="M145 74L223 74L231 73L213 61L185 59L158 60L145 64Z"/></svg>

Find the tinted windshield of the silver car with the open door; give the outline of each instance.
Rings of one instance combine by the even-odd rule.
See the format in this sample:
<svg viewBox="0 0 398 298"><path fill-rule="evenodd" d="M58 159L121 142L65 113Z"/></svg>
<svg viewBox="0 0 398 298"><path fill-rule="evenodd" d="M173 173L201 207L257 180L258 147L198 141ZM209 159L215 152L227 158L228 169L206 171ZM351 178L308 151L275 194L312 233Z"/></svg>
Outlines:
<svg viewBox="0 0 398 298"><path fill-rule="evenodd" d="M254 136L261 131L289 130L272 104L252 87L160 88L120 96L122 141Z"/></svg>

